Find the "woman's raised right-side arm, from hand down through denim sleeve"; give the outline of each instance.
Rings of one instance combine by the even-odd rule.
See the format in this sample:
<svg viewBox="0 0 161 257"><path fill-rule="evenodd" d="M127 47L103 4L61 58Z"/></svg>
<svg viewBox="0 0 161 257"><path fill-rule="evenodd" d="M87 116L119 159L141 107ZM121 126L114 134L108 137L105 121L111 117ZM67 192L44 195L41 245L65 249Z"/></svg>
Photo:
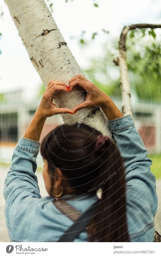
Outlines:
<svg viewBox="0 0 161 257"><path fill-rule="evenodd" d="M147 157L147 150L137 132L131 115L123 116L113 101L99 90L91 81L77 75L70 81L70 88L79 85L87 91L86 101L74 107L73 111L85 107L100 106L109 120L110 129L116 145L125 162L127 187L140 194L140 199L150 204L153 216L157 209L156 180L150 171L152 161Z"/></svg>

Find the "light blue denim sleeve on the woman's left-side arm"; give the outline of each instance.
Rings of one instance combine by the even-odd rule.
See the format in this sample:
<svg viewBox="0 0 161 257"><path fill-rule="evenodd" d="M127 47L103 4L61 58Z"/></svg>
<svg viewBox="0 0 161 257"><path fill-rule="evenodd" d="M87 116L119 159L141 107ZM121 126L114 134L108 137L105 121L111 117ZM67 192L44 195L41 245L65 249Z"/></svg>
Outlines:
<svg viewBox="0 0 161 257"><path fill-rule="evenodd" d="M35 175L39 145L37 141L22 137L14 149L3 191L7 221L10 220L9 211L19 213L23 206L29 206L35 198L41 198ZM8 222L7 226L9 229Z"/></svg>

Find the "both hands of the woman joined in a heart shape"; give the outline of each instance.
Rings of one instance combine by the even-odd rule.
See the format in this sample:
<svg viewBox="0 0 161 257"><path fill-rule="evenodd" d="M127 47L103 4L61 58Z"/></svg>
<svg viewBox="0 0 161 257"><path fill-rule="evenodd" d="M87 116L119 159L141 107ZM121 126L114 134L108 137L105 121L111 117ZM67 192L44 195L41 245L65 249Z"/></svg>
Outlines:
<svg viewBox="0 0 161 257"><path fill-rule="evenodd" d="M83 103L77 104L73 110L69 108L58 108L53 103L53 98L59 91L72 91L77 85L87 91L87 97ZM108 98L109 97L99 90L99 88L91 81L88 81L84 76L78 74L70 79L69 86L62 81L49 81L48 87L45 90L41 103L37 109L37 113L41 114L41 116L43 115L44 118L51 117L54 114L74 114L77 110L81 110L86 107L105 106Z"/></svg>

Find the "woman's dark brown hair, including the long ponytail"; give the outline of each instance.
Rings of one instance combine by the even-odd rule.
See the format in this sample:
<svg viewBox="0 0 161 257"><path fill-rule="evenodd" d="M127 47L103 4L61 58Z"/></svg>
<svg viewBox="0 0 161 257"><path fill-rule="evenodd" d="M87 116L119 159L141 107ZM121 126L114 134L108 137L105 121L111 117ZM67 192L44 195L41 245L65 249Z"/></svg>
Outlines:
<svg viewBox="0 0 161 257"><path fill-rule="evenodd" d="M52 185L57 167L74 195L97 198L97 189L102 190L89 224L88 241L127 242L124 163L113 140L103 143L103 153L95 150L100 134L83 123L63 124L47 134L40 151L48 162Z"/></svg>

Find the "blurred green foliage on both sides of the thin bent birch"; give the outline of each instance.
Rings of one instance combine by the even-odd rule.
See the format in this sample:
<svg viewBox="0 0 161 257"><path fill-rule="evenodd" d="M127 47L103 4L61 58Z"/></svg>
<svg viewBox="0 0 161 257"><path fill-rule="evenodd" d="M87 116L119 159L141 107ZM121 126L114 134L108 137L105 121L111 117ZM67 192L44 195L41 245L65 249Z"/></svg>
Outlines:
<svg viewBox="0 0 161 257"><path fill-rule="evenodd" d="M139 34L138 32L135 35L132 33L126 42L131 91L141 100L160 101L161 43L154 40L153 36L150 37L149 32L145 30L141 30ZM147 35L142 38L144 32ZM92 58L90 68L86 69L85 73L106 94L116 97L121 96L119 68L113 63L113 58L118 56L118 52L115 42L111 42L110 45L108 48L102 46L104 51L101 58Z"/></svg>

